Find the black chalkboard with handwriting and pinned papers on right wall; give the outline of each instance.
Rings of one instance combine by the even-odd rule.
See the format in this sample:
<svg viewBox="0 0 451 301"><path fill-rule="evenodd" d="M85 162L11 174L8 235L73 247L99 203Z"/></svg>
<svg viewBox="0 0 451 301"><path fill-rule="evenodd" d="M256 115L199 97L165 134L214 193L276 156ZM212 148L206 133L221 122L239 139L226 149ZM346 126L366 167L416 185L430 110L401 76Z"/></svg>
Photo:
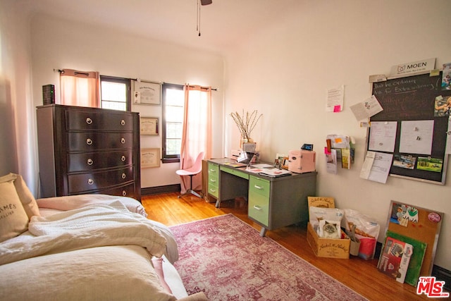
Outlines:
<svg viewBox="0 0 451 301"><path fill-rule="evenodd" d="M393 163L390 176L400 176L428 183L445 184L447 154L447 123L449 111L435 110L436 102L446 102L451 97L451 90L442 89L442 73L431 76L429 73L412 75L405 78L393 78L383 82L373 82L372 94L378 99L383 111L370 118L370 121L396 121L397 131ZM436 98L438 97L438 98ZM440 100L438 100L440 99ZM402 125L404 121L433 121L431 154L400 152ZM371 126L366 137L369 149ZM420 137L418 137L420 138ZM369 149L371 150L371 149ZM399 164L408 161L409 164ZM402 166L402 167L399 167Z"/></svg>

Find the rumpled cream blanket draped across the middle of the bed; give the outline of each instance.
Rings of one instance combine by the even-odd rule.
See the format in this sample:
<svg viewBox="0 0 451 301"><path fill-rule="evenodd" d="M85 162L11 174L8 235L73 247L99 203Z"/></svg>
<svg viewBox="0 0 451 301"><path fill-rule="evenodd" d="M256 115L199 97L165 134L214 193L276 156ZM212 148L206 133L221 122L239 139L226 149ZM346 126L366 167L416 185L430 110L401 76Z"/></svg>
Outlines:
<svg viewBox="0 0 451 301"><path fill-rule="evenodd" d="M89 247L139 245L152 256L166 252L166 238L144 216L121 202L87 206L48 217L33 216L28 232L0 245L0 265Z"/></svg>

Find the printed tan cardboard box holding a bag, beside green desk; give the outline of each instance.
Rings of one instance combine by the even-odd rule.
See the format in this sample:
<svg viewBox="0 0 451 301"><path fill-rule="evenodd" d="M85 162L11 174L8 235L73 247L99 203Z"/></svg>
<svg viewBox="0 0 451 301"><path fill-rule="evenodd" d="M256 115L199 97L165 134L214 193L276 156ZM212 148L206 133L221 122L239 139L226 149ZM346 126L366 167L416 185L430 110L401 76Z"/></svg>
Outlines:
<svg viewBox="0 0 451 301"><path fill-rule="evenodd" d="M325 207L335 208L333 197L308 197L309 208ZM351 239L341 231L343 239L320 238L311 223L307 224L307 242L317 257L350 258Z"/></svg>

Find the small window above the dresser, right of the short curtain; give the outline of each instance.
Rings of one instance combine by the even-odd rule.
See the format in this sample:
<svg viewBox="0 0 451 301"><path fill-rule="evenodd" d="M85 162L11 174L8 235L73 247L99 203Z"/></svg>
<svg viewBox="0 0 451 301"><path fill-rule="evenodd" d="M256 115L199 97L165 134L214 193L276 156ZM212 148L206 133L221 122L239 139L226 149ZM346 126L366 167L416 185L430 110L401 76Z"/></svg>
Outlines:
<svg viewBox="0 0 451 301"><path fill-rule="evenodd" d="M100 75L102 109L131 110L130 79Z"/></svg>

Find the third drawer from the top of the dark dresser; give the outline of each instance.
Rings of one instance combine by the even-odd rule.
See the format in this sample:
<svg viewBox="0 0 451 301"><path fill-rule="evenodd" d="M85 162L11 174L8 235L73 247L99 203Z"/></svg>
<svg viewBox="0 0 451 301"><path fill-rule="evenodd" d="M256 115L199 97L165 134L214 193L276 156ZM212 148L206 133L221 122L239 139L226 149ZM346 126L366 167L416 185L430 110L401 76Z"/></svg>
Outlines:
<svg viewBox="0 0 451 301"><path fill-rule="evenodd" d="M133 164L132 151L88 152L68 154L68 173L96 169L123 167Z"/></svg>

